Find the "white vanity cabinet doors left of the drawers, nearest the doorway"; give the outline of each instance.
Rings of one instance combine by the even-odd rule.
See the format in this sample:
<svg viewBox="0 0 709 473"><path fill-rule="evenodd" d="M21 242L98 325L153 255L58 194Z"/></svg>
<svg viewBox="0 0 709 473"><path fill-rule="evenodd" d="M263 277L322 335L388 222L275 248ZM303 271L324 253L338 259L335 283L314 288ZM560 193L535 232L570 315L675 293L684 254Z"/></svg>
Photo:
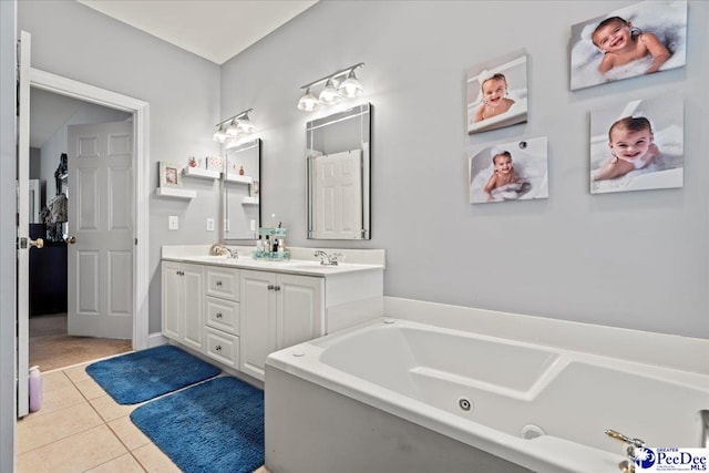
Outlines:
<svg viewBox="0 0 709 473"><path fill-rule="evenodd" d="M163 335L202 351L204 346L204 266L163 261Z"/></svg>

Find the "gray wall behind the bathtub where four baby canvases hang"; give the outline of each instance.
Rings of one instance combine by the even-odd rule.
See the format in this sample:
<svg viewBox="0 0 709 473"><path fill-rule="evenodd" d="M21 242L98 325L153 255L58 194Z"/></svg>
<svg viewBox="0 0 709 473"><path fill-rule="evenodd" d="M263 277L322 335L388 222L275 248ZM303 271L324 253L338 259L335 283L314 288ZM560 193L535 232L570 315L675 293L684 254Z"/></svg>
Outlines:
<svg viewBox="0 0 709 473"><path fill-rule="evenodd" d="M386 248L387 296L709 338L709 3L689 2L687 66L568 90L571 25L635 2L321 1L223 65L222 110L253 106L263 215L295 246ZM528 123L465 128L465 72L526 49ZM363 61L373 106L372 239L306 239L299 86ZM685 186L592 196L589 112L685 97ZM467 151L548 137L549 198L470 205ZM296 203L294 205L294 203Z"/></svg>

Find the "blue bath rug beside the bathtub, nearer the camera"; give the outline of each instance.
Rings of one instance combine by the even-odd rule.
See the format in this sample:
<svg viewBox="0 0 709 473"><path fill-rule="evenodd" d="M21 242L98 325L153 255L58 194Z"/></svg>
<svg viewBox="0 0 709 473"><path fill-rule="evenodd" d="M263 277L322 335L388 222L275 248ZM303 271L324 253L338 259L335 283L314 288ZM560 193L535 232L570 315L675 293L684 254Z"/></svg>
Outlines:
<svg viewBox="0 0 709 473"><path fill-rule="evenodd" d="M264 464L264 391L219 377L138 407L131 420L185 473Z"/></svg>

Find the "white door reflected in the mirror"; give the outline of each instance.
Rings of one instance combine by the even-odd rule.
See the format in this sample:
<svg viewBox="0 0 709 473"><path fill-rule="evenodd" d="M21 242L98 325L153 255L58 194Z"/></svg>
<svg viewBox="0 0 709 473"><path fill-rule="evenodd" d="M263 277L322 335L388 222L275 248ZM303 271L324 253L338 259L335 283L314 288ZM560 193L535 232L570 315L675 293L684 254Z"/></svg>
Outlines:
<svg viewBox="0 0 709 473"><path fill-rule="evenodd" d="M326 154L312 162L315 237L361 238L362 151Z"/></svg>

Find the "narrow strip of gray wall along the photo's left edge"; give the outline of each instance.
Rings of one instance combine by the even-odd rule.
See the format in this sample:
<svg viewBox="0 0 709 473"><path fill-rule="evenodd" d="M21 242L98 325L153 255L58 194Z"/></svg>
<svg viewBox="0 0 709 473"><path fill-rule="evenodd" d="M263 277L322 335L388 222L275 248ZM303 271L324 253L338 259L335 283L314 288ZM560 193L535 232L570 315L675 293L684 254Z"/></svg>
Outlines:
<svg viewBox="0 0 709 473"><path fill-rule="evenodd" d="M16 202L14 1L0 1L0 200ZM14 471L17 209L0 205L0 471Z"/></svg>

